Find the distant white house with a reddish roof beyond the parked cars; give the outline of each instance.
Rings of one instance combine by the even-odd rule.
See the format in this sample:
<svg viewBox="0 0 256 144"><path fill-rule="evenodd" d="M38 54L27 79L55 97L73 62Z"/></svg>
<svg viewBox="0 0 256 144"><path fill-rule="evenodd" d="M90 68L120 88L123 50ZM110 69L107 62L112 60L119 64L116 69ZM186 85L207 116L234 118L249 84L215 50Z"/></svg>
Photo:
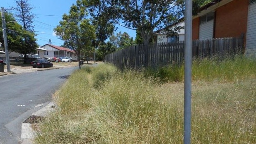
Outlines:
<svg viewBox="0 0 256 144"><path fill-rule="evenodd" d="M44 51L43 57L71 57L72 60L77 60L77 55L73 50L70 50L68 48L60 47L60 46L54 46L52 44L45 44L41 46L41 48L46 49L47 51Z"/></svg>

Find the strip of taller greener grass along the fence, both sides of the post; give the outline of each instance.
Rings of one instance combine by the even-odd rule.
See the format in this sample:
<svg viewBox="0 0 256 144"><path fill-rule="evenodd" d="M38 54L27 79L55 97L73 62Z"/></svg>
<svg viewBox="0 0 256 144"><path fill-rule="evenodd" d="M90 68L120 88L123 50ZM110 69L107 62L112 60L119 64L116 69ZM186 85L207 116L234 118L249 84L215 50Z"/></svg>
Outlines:
<svg viewBox="0 0 256 144"><path fill-rule="evenodd" d="M146 76L161 79L162 82L183 82L184 64L181 66L168 65L165 67L147 68ZM244 56L221 59L218 57L194 59L192 62L192 79L194 81L235 82L256 78L256 60Z"/></svg>

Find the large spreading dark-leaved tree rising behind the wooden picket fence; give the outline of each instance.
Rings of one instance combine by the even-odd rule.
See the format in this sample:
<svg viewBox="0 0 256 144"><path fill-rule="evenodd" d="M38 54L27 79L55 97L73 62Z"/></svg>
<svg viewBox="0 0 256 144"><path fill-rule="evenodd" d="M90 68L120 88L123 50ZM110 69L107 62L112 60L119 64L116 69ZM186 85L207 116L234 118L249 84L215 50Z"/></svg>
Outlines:
<svg viewBox="0 0 256 144"><path fill-rule="evenodd" d="M101 11L94 14L108 14L111 22L139 31L144 44L150 42L153 30L175 24L184 11L182 0L98 0L97 3Z"/></svg>

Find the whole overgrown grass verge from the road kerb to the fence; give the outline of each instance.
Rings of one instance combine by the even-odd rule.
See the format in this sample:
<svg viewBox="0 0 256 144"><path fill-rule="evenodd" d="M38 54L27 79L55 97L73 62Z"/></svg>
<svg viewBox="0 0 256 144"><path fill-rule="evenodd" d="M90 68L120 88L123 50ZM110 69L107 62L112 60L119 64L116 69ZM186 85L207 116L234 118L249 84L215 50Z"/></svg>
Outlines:
<svg viewBox="0 0 256 144"><path fill-rule="evenodd" d="M241 57L193 62L192 144L256 143L255 69L254 60ZM55 94L58 108L40 123L35 141L181 144L182 70L169 66L158 72L121 72L107 64L84 67Z"/></svg>

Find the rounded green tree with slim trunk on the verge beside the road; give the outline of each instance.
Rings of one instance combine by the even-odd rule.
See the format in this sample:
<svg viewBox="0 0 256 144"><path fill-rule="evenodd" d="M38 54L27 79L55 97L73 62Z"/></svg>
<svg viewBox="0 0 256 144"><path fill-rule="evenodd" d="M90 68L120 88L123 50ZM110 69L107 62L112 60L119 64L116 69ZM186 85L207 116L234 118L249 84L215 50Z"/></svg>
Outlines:
<svg viewBox="0 0 256 144"><path fill-rule="evenodd" d="M75 51L80 61L82 50L91 49L95 39L95 27L90 19L87 19L87 9L77 0L76 5L70 7L69 14L63 14L63 20L54 29L56 35L64 41L64 46ZM81 69L79 62L79 69Z"/></svg>

